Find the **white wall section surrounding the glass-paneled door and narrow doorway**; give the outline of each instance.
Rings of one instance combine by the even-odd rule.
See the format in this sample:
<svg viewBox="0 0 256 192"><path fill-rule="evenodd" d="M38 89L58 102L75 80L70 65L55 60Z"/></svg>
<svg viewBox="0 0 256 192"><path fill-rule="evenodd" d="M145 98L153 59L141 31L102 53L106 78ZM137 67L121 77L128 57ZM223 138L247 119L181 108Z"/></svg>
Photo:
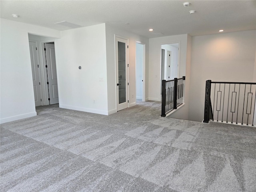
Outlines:
<svg viewBox="0 0 256 192"><path fill-rule="evenodd" d="M107 76L108 76L108 112L109 114L116 111L116 67L115 67L115 34L129 38L129 104L136 104L136 41L146 44L146 61L145 61L145 88L146 100L148 99L148 38L114 28L106 24L106 52L107 52Z"/></svg>

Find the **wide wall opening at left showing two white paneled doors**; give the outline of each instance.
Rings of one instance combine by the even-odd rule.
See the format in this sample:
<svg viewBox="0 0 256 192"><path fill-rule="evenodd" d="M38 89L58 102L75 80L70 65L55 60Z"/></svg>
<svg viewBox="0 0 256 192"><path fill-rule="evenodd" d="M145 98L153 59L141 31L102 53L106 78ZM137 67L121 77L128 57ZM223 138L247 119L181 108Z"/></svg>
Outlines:
<svg viewBox="0 0 256 192"><path fill-rule="evenodd" d="M35 106L58 104L54 39L28 34Z"/></svg>

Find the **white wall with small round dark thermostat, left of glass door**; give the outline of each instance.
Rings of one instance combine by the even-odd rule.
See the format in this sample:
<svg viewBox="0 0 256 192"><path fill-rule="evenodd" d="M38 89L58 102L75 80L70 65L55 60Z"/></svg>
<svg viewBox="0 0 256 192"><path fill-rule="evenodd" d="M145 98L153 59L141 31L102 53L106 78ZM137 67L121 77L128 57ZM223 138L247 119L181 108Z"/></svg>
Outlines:
<svg viewBox="0 0 256 192"><path fill-rule="evenodd" d="M105 24L62 31L55 51L59 106L107 115Z"/></svg>

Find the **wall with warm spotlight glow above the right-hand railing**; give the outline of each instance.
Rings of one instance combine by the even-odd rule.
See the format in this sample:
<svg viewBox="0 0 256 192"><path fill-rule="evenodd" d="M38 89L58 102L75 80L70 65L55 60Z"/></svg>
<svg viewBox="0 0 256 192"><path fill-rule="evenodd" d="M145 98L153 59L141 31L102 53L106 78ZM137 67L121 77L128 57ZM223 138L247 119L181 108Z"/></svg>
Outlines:
<svg viewBox="0 0 256 192"><path fill-rule="evenodd" d="M205 82L252 82L256 31L192 37L189 120L204 118Z"/></svg>

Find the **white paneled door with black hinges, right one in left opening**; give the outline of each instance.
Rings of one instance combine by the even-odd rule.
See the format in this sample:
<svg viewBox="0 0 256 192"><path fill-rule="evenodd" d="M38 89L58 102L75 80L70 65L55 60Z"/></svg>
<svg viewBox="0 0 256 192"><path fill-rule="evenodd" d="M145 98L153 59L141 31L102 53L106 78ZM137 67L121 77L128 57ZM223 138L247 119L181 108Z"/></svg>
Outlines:
<svg viewBox="0 0 256 192"><path fill-rule="evenodd" d="M58 96L58 83L57 83L57 70L55 60L55 49L54 44L45 43L45 54L46 54L46 73L48 77L48 92L50 98L50 104L59 103Z"/></svg>

